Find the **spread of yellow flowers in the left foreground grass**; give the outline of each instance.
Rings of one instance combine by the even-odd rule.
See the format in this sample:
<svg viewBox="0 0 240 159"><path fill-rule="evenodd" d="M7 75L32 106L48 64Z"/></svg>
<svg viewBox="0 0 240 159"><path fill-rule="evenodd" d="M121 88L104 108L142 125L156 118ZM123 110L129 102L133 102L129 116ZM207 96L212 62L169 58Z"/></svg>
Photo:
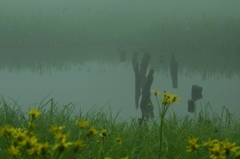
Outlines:
<svg viewBox="0 0 240 159"><path fill-rule="evenodd" d="M99 132L94 126L89 126L89 121L84 121L81 118L76 122L81 129L77 141L69 141L69 133L63 133L64 126L53 125L50 128L50 132L54 134L55 142L39 142L37 134L31 130L35 126L34 121L40 114L37 109L28 111L30 120L27 128L15 128L9 125L0 127L0 137L3 136L6 138L9 145L6 151L11 158L26 158L27 156L33 158L34 156L51 159L60 158L66 149L68 152L76 153L79 149L86 147L87 143L84 143L81 139L98 134L98 136L96 136L97 138L105 140L107 136L106 129L102 129L102 131ZM115 142L121 145L122 139L118 137ZM128 156L123 159L128 159Z"/></svg>

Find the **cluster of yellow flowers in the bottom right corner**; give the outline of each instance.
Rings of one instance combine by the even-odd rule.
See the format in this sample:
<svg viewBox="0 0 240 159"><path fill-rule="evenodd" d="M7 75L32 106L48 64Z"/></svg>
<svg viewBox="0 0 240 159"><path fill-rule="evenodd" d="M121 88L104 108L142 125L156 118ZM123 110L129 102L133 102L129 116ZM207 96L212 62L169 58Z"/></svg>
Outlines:
<svg viewBox="0 0 240 159"><path fill-rule="evenodd" d="M187 142L189 145L187 146L187 152L192 152L199 149L200 145L197 144L198 138L190 138L188 137ZM219 141L217 139L203 142L202 147L207 147L210 152L210 158L212 159L226 159L231 153L235 154L236 159L240 159L240 147L235 146L235 143L230 143L228 139L225 141Z"/></svg>

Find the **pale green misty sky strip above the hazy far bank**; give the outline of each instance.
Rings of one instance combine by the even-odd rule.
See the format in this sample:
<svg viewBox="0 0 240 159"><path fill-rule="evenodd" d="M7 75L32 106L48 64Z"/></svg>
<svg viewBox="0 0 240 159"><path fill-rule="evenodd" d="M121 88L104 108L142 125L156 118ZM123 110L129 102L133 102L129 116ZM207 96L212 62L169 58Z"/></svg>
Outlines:
<svg viewBox="0 0 240 159"><path fill-rule="evenodd" d="M240 18L239 0L1 0L0 13L21 14L38 12L56 13L69 8L68 12L101 16L112 14L155 14L156 16L230 16ZM87 11L87 12L86 12ZM98 14L96 14L98 13Z"/></svg>

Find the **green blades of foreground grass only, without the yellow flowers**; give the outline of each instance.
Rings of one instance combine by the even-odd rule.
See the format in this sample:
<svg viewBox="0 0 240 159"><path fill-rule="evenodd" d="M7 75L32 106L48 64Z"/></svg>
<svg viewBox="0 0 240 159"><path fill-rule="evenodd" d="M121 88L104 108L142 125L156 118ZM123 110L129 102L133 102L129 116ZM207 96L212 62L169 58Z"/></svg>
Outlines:
<svg viewBox="0 0 240 159"><path fill-rule="evenodd" d="M0 101L0 127L9 125L15 128L29 129L28 122L34 121L35 127L31 132L37 134L38 142L49 142L50 145L56 143L56 136L50 131L51 126L65 126L62 133L69 133L68 142L74 142L78 139L83 140L86 147L80 148L73 153L73 145L67 147L59 156L59 158L105 158L120 159L127 157L130 159L159 158L159 118L144 122L140 127L137 119L120 120L121 113L112 116L103 111L92 110L83 113L77 112L73 104L59 105L53 100L49 101L50 107L46 107L47 103L41 102L35 105L41 114L36 119L32 119L27 115L28 111L20 108L17 102L9 104L4 98ZM175 105L177 106L177 105ZM209 113L206 110L203 113L201 122L190 119L189 116L179 117L175 113L171 113L164 118L162 133L162 150L161 158L166 159L186 159L186 158L209 158L210 153L207 149L199 149L196 152L187 152L187 138L193 137L198 139L198 144L207 141L208 138L217 139L219 141L229 140L231 143L240 145L240 127L238 120L234 120L233 116L223 108L222 116ZM109 111L111 112L111 111ZM89 121L89 126L80 128L76 122L79 119ZM101 138L98 134L87 137L86 133L91 126L94 126L98 132L102 129L106 130L106 137ZM2 132L2 129L0 129ZM120 137L122 144L117 142ZM10 158L7 149L9 140L5 136L0 136L0 156L1 158ZM11 142L10 142L11 143ZM52 149L51 149L52 150ZM53 151L52 151L53 153ZM56 152L55 152L56 153ZM230 158L233 158L233 154ZM21 157L16 157L21 158ZM32 155L26 156L25 159L43 158L43 156ZM48 158L51 158L48 156ZM53 158L53 157L52 157Z"/></svg>

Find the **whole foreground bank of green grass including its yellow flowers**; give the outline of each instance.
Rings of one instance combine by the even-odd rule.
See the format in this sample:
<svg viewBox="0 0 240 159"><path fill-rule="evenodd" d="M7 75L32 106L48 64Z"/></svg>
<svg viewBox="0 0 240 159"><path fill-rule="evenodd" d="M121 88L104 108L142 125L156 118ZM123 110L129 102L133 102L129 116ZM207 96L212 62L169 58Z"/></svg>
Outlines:
<svg viewBox="0 0 240 159"><path fill-rule="evenodd" d="M102 111L76 113L76 106L60 106L53 100L50 108L41 102L25 113L16 102L10 105L2 98L0 156L26 159L239 158L239 122L226 109L222 112L226 113L226 120L223 115L209 115L209 112L198 121L174 113L165 117L178 96L164 92L158 99L159 93L153 91L153 94L159 101L159 117L145 121L142 126L135 119L119 121L118 116Z"/></svg>

